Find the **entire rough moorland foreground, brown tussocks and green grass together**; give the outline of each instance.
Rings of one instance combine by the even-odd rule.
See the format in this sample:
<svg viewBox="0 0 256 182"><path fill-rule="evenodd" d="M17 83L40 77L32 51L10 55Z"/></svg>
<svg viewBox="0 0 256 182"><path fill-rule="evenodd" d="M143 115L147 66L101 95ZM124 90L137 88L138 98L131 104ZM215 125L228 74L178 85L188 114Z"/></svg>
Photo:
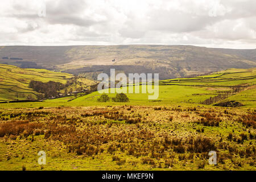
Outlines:
<svg viewBox="0 0 256 182"><path fill-rule="evenodd" d="M109 106L1 110L1 170L255 170L255 110ZM46 165L38 164L39 151ZM208 152L217 152L217 165Z"/></svg>

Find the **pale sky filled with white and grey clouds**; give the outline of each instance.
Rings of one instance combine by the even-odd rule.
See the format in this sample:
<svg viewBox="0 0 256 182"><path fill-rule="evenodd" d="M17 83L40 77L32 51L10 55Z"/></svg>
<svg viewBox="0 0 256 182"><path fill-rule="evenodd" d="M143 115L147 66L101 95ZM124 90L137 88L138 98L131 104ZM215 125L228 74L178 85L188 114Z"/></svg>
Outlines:
<svg viewBox="0 0 256 182"><path fill-rule="evenodd" d="M255 0L1 0L1 46L256 48Z"/></svg>

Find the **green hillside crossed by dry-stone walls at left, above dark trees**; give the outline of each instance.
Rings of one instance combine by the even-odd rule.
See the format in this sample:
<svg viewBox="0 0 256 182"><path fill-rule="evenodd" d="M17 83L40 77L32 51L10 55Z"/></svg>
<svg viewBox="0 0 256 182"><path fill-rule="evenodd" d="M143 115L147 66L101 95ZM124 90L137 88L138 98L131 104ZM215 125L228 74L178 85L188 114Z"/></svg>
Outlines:
<svg viewBox="0 0 256 182"><path fill-rule="evenodd" d="M74 78L68 73L52 72L46 69L22 69L13 65L0 64L0 102L38 99L39 93L29 87L32 80L66 84L68 80L71 82ZM84 87L95 83L86 78L77 78L76 81L76 84L71 84L65 89L75 91L77 83ZM64 90L60 92L64 93Z"/></svg>

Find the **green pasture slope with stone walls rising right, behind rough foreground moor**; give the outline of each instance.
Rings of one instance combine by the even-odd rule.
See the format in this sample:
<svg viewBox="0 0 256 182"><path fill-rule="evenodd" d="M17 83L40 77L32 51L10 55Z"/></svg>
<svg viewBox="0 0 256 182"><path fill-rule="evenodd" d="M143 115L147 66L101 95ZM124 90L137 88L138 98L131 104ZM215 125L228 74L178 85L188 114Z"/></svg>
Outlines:
<svg viewBox="0 0 256 182"><path fill-rule="evenodd" d="M206 76L175 78L159 82L159 97L148 100L148 94L127 93L130 102L98 102L100 93L93 92L75 98L64 97L44 102L23 104L0 104L0 107L40 107L40 106L109 106L109 105L213 105L234 98L244 107L255 107L256 68L228 69ZM138 87L139 85L136 85ZM127 87L128 88L128 87ZM135 86L134 86L135 88ZM140 88L141 89L141 88ZM114 97L115 94L108 94ZM71 100L72 101L68 101Z"/></svg>

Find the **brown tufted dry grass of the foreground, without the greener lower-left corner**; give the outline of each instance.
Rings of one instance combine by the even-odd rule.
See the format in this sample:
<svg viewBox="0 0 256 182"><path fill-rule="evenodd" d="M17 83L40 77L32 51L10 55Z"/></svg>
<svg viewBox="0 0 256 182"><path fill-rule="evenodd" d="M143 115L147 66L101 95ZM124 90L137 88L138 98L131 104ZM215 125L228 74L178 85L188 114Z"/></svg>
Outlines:
<svg viewBox="0 0 256 182"><path fill-rule="evenodd" d="M251 121L251 111L233 109L222 114L221 108L157 108L6 110L0 113L1 118L7 118L0 122L0 137L30 138L33 142L35 136L42 135L47 142L63 144L67 154L93 159L110 155L112 162L123 167L190 165L205 169L208 152L212 150L218 152L220 165L233 158L239 159L234 162L234 168L254 164L255 129L242 124L245 119Z"/></svg>

